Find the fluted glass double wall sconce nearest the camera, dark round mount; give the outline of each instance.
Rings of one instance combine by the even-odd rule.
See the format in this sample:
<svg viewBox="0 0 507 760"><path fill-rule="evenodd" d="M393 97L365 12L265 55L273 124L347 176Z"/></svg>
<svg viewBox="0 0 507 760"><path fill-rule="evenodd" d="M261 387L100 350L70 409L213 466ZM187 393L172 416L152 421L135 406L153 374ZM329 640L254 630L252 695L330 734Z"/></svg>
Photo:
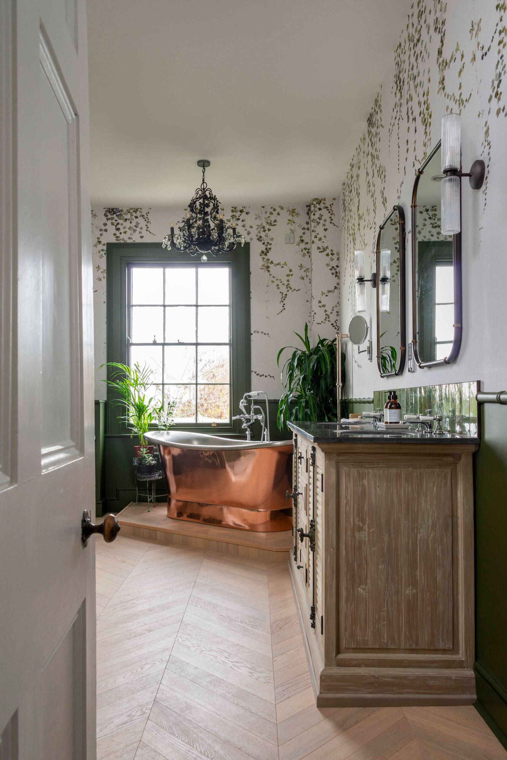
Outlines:
<svg viewBox="0 0 507 760"><path fill-rule="evenodd" d="M446 113L442 118L442 235L456 235L461 231L460 190L461 177L468 177L473 190L480 190L486 166L482 159L474 161L470 172L461 172L461 117Z"/></svg>

